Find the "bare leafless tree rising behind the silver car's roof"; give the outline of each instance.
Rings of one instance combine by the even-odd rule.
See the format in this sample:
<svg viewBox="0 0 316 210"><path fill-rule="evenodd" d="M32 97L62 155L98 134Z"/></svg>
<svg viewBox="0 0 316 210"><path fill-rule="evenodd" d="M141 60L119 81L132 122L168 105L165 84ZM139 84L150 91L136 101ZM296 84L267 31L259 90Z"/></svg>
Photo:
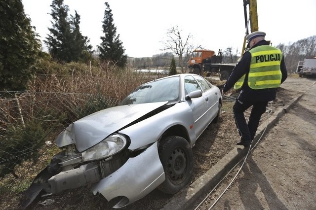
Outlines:
<svg viewBox="0 0 316 210"><path fill-rule="evenodd" d="M186 38L183 38L181 33L182 30L180 30L178 26L168 29L167 39L165 42L162 42L164 47L160 50L171 50L177 55L181 72L184 73L183 66L185 66L186 62L183 61L183 57L188 58L189 54L193 51L194 46L190 42L193 36L189 34Z"/></svg>

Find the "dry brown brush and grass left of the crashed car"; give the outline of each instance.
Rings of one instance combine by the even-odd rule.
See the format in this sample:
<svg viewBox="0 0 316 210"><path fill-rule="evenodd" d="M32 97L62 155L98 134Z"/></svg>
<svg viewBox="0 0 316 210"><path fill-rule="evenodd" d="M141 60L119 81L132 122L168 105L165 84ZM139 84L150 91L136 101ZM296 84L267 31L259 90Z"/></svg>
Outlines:
<svg viewBox="0 0 316 210"><path fill-rule="evenodd" d="M43 67L47 73L37 74L27 91L0 93L2 201L27 188L58 151L45 142L54 141L71 122L118 105L140 84L163 76L133 73L106 63L98 67L45 63Z"/></svg>

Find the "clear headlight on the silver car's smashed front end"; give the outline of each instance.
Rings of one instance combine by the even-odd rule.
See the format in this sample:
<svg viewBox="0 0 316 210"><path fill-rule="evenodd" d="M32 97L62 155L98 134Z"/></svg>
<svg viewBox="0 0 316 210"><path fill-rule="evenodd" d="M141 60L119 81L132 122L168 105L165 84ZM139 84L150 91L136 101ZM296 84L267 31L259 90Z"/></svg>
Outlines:
<svg viewBox="0 0 316 210"><path fill-rule="evenodd" d="M110 157L121 151L126 145L126 138L120 134L112 134L100 143L83 151L82 160L91 161Z"/></svg>

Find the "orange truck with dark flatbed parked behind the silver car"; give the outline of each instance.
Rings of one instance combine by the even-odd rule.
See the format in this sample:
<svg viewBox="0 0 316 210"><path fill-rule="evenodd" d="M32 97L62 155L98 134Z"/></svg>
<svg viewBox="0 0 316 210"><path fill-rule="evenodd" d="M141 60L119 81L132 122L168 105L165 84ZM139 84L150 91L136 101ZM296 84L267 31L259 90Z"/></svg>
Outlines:
<svg viewBox="0 0 316 210"><path fill-rule="evenodd" d="M190 56L188 67L191 73L199 75L216 73L221 80L226 80L236 64L223 64L222 51L215 55L213 50L197 49Z"/></svg>

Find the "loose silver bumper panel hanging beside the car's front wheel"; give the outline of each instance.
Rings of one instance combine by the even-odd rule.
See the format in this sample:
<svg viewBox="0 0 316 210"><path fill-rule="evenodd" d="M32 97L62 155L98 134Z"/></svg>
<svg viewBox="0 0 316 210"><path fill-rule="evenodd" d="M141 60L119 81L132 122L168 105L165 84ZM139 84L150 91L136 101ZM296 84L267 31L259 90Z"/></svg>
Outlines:
<svg viewBox="0 0 316 210"><path fill-rule="evenodd" d="M123 196L113 207L121 208L143 198L164 180L156 141L138 156L129 158L116 172L94 184L92 192L101 193L108 201Z"/></svg>

